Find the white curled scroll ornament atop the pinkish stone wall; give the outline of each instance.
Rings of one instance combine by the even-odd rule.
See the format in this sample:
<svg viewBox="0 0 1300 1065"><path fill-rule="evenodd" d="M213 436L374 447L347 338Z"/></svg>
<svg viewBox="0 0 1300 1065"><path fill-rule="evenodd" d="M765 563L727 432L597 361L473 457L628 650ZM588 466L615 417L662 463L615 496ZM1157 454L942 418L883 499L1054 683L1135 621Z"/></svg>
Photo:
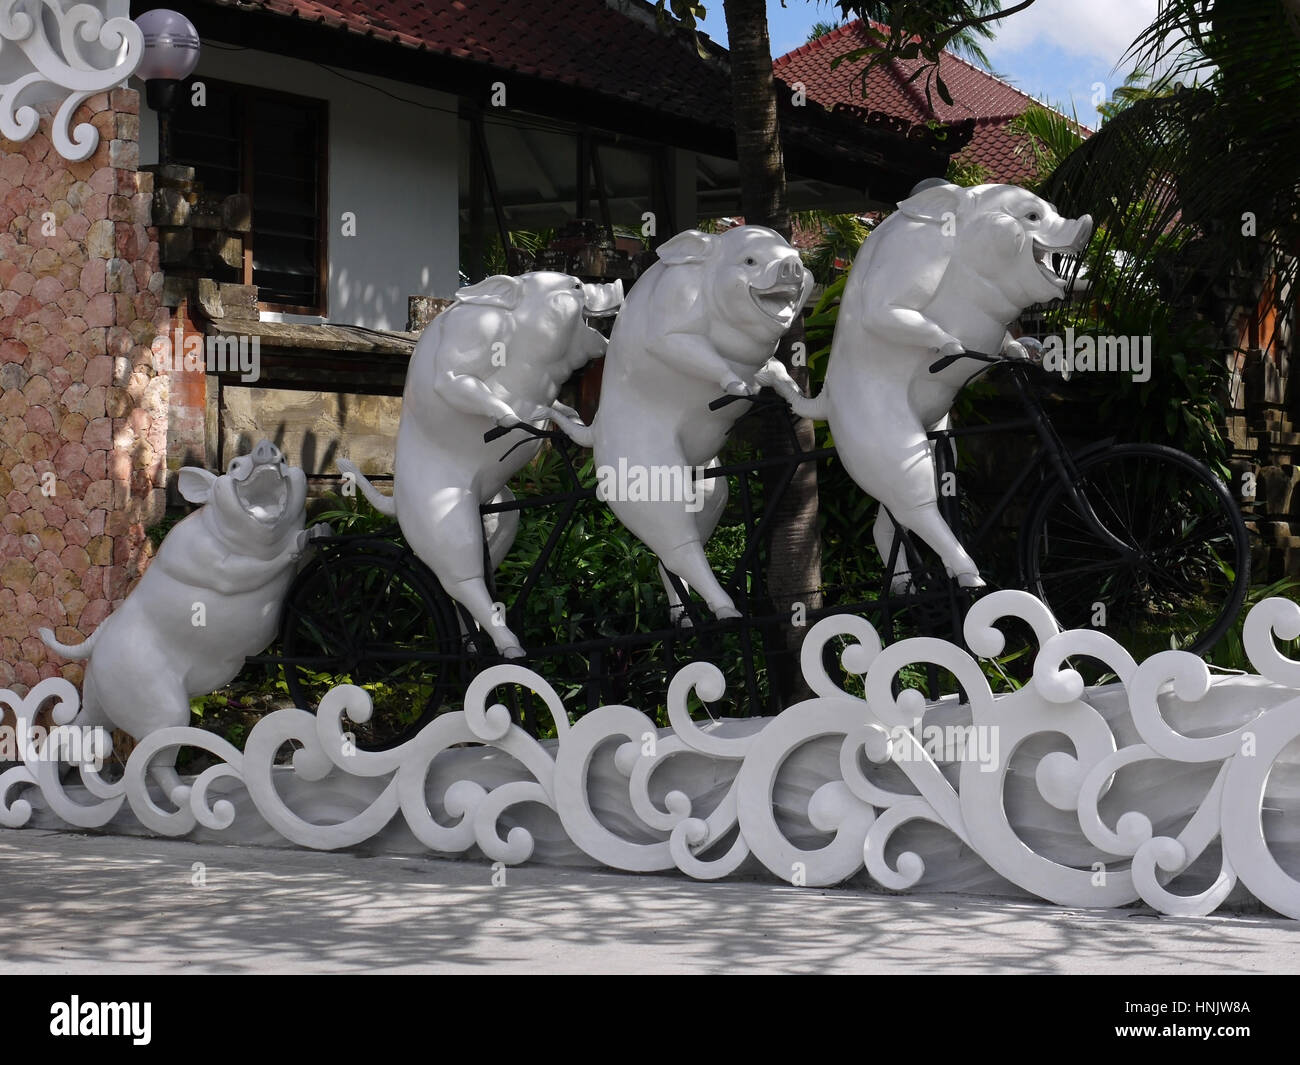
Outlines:
<svg viewBox="0 0 1300 1065"><path fill-rule="evenodd" d="M73 114L96 92L125 82L144 53L130 18L108 17L120 5L65 0L0 0L0 135L27 140L40 124L34 103L58 100L49 139L69 163L88 159L99 130L73 127Z"/></svg>

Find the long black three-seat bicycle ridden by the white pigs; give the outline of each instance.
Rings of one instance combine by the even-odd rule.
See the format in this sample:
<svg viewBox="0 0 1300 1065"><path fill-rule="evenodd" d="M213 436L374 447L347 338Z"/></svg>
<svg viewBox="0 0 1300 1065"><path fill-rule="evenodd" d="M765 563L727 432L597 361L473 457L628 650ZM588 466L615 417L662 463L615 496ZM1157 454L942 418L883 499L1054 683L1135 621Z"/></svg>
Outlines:
<svg viewBox="0 0 1300 1065"><path fill-rule="evenodd" d="M1034 455L982 514L974 512L978 507L971 506L970 495L940 492L945 520L966 549L991 567L989 575L1002 554L997 537L1008 516L1015 516L1011 507L1027 499L1009 583L1037 594L1063 628L1101 628L1139 659L1169 648L1171 640L1192 651L1213 645L1240 611L1249 584L1245 525L1214 473L1160 445L1106 440L1071 450L1031 384L1035 364L971 351L954 358L987 364L972 380L988 365L1004 365L1024 416L932 432L940 485L957 476L958 438L1018 429L1032 429L1039 438ZM937 372L952 362L941 359L931 369ZM528 632L523 623L529 598L545 594L547 581L569 580L563 546L581 527L580 507L593 505L595 488L585 482L576 449L563 433L526 424L488 433L489 438L520 433L521 443L526 436L547 438L560 456L563 490L482 510L489 515L543 508L543 520L550 520L545 545L512 589L506 620L524 632L525 661L550 661L589 709L623 701L619 685L625 690L633 668L654 671L663 684L651 687L663 690L680 664L699 658L736 668L734 702L728 713L774 714L781 709L774 687L767 683L764 688L760 675L779 655L790 655L784 638L790 614L777 610L766 592L763 545L798 467L831 459L835 449L798 449L789 408L768 391L719 397L708 406L716 410L741 399L753 407L746 416L771 408L784 412L792 427L790 454L702 473L733 479L744 549L724 584L742 616L708 616L670 575L686 606L689 628L670 624L646 631L634 619L608 616L606 605L592 603L588 616L552 619L549 632ZM755 475L760 472L768 476L758 486ZM879 590L822 589L818 594L827 594L820 606L806 611L805 624L848 612L866 616L885 638L922 631L961 642L966 611L980 593L959 588L915 537L901 527L898 532ZM360 746L382 749L404 741L433 715L454 706L469 679L498 661L490 638L443 592L396 525L325 537L315 545L315 558L286 597L280 653L251 661L281 666L290 696L303 707L316 706L334 684L365 687L374 713L356 728ZM862 550L874 547L864 544ZM904 553L911 583L900 593L890 590L889 575ZM937 677L927 683L932 693L940 690ZM536 726L542 707L526 693L511 688L503 698L525 728Z"/></svg>

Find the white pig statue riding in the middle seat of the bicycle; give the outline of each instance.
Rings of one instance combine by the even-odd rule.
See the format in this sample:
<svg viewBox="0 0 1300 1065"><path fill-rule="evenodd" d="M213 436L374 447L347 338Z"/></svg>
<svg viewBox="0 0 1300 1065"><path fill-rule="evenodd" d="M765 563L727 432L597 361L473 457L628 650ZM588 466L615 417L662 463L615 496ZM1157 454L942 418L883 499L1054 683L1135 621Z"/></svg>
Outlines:
<svg viewBox="0 0 1300 1065"><path fill-rule="evenodd" d="M686 230L659 247L659 261L628 294L610 335L601 403L590 428L556 419L578 443L593 447L597 472L636 471L686 484L716 463L727 430L744 403L718 411L720 394L758 391L755 375L812 290L800 255L771 229L742 225L718 235ZM676 477L664 476L676 472ZM606 479L602 479L606 480ZM716 618L738 616L714 576L703 545L727 505L727 481L696 481L690 498L602 492L610 508L658 557L660 567L694 586ZM636 498L632 498L636 497ZM673 618L682 603L664 579Z"/></svg>

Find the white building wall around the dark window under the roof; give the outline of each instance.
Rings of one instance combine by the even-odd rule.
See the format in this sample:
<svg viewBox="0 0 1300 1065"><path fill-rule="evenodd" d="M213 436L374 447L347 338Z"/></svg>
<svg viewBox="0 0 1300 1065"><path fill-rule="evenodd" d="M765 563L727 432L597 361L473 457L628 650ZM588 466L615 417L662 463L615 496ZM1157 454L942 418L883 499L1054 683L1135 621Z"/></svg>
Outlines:
<svg viewBox="0 0 1300 1065"><path fill-rule="evenodd" d="M458 287L456 98L344 73L346 78L312 62L204 42L195 77L329 103L325 320L404 329L408 295L450 296ZM140 161L156 163L157 116L140 96ZM355 237L342 235L347 211L356 215Z"/></svg>

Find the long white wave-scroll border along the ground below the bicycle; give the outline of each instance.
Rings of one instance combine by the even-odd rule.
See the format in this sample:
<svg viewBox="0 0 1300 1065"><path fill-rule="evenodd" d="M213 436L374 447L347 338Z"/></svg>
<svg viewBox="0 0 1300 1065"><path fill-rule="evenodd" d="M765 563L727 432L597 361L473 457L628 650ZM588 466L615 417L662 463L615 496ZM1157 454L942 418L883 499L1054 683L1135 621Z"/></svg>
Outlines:
<svg viewBox="0 0 1300 1065"><path fill-rule="evenodd" d="M1058 632L1023 592L970 611L974 654L1001 654L994 625L1013 618L1032 629L1037 653L1032 680L1000 694L953 644L887 648L867 622L836 615L803 642L814 696L768 719L693 720L692 694L725 694L722 672L697 662L671 681L670 728L630 706L569 722L541 676L506 663L472 681L464 710L386 752L350 741L348 719L365 720L370 705L347 685L315 715L269 714L243 752L195 728L155 732L116 782L87 765L79 784L64 780L77 774L25 741L22 763L0 775L0 823L697 879L766 871L807 887L866 880L1069 906L1141 900L1180 915L1264 904L1300 918L1300 662L1274 642L1300 637L1300 606L1254 607L1244 642L1258 674L1234 676L1212 676L1184 651L1138 664L1101 632ZM840 683L824 664L832 641L846 642ZM1084 688L1067 661L1080 658L1117 681ZM950 671L966 702L896 692L900 671L927 663ZM493 698L510 685L542 697L554 740L512 723ZM0 703L30 720L52 696L55 720L73 720L75 690L60 679L26 698L0 692ZM954 736L965 739L952 746ZM214 765L162 795L150 763L179 746Z"/></svg>

